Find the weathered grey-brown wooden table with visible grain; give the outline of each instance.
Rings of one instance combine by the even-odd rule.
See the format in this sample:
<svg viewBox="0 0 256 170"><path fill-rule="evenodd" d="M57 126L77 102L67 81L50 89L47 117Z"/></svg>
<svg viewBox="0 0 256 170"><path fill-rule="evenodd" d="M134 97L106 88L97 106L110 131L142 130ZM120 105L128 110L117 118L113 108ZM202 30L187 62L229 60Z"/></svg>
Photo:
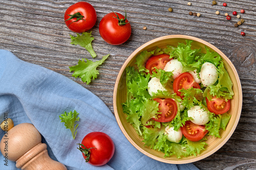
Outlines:
<svg viewBox="0 0 256 170"><path fill-rule="evenodd" d="M93 59L80 46L70 44L71 32L63 15L66 9L79 1L65 0L0 0L0 48L9 50L18 58L62 74L84 88L89 89L113 110L113 89L119 69L124 61L140 45L154 38L183 34L201 38L217 46L236 66L243 88L243 110L236 131L227 143L215 154L195 162L200 169L256 169L256 1L109 1L89 0L97 12L97 22L93 27L93 48L98 55ZM187 3L191 2L191 6ZM224 7L222 4L227 3ZM172 7L173 12L168 12ZM132 35L121 45L110 45L99 34L101 18L112 11L124 14L131 22ZM245 13L241 14L240 10ZM201 16L190 16L197 12ZM219 11L220 15L215 12ZM238 22L237 11L245 22ZM225 13L231 16L227 20ZM146 26L147 30L143 30ZM245 36L241 36L241 32ZM69 66L79 59L93 61L110 54L98 67L100 75L90 85L72 77Z"/></svg>

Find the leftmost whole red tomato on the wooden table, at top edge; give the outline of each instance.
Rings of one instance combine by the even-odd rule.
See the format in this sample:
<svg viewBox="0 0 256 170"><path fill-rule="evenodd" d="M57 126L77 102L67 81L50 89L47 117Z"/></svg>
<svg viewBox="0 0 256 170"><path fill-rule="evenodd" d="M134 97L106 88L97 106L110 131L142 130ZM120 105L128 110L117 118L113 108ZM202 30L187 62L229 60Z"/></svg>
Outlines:
<svg viewBox="0 0 256 170"><path fill-rule="evenodd" d="M71 31L82 33L93 28L97 20L97 15L91 4L79 2L66 10L64 19Z"/></svg>

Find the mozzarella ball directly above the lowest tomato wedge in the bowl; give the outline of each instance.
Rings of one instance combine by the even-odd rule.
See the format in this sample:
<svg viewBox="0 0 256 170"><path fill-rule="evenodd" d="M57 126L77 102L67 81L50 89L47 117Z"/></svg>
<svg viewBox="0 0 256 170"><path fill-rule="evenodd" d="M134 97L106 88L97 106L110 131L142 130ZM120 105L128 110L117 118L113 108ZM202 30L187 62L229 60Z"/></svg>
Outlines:
<svg viewBox="0 0 256 170"><path fill-rule="evenodd" d="M205 125L209 122L209 113L204 108L201 109L201 106L194 106L187 111L188 117L191 122L197 125Z"/></svg>

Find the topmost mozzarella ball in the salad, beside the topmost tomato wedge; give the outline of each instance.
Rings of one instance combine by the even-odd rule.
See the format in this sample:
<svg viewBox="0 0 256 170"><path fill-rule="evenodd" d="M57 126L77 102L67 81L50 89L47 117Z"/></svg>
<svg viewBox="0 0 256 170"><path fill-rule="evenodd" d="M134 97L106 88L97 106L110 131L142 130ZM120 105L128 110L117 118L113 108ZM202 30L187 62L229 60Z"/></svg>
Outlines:
<svg viewBox="0 0 256 170"><path fill-rule="evenodd" d="M180 74L182 74L182 68L182 63L179 62L178 59L174 59L166 63L164 70L172 71L174 74L173 78L176 79Z"/></svg>

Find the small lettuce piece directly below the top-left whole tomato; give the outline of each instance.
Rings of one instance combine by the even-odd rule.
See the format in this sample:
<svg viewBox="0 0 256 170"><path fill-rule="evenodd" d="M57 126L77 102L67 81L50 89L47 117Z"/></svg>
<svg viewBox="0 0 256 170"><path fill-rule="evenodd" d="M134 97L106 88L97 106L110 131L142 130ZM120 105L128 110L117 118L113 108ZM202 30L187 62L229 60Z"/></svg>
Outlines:
<svg viewBox="0 0 256 170"><path fill-rule="evenodd" d="M93 58L97 56L92 46L92 40L94 40L94 37L92 37L92 32L83 32L82 35L77 34L77 37L70 35L70 38L72 40L71 44L80 45L86 48Z"/></svg>

